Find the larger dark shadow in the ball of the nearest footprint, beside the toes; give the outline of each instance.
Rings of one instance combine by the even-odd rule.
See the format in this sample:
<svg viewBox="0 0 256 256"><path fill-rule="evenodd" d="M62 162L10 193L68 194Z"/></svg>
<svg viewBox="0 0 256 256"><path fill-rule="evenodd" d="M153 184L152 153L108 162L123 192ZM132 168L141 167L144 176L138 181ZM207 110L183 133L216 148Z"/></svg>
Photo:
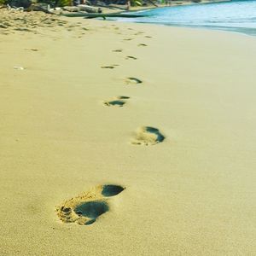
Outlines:
<svg viewBox="0 0 256 256"><path fill-rule="evenodd" d="M87 201L74 208L74 212L79 216L96 219L103 213L108 212L109 207L105 201ZM88 223L87 223L88 224Z"/></svg>

